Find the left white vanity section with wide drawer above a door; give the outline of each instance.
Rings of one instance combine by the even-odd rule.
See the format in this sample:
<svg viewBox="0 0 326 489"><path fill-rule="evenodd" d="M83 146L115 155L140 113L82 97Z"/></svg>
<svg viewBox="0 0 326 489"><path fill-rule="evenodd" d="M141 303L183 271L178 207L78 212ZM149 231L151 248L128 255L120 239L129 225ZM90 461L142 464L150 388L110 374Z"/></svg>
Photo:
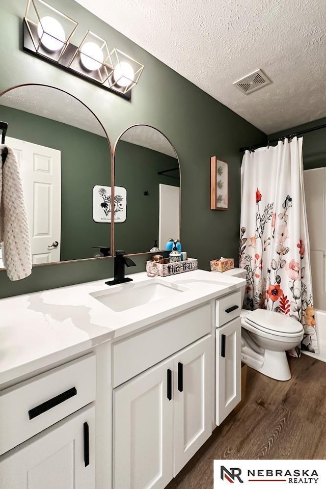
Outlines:
<svg viewBox="0 0 326 489"><path fill-rule="evenodd" d="M95 489L95 355L0 392L0 487Z"/></svg>

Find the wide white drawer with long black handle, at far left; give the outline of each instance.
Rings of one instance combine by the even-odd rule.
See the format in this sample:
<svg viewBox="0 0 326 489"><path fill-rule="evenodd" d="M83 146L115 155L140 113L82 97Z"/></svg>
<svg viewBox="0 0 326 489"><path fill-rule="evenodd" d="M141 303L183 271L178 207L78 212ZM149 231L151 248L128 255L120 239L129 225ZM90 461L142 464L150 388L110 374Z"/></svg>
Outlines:
<svg viewBox="0 0 326 489"><path fill-rule="evenodd" d="M95 355L0 392L0 455L95 399Z"/></svg>

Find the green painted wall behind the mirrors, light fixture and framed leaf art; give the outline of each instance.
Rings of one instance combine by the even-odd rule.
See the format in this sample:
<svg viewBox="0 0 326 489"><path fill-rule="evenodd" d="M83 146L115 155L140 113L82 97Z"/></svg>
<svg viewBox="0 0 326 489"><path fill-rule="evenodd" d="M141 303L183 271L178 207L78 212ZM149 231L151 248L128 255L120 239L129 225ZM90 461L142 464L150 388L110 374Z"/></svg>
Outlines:
<svg viewBox="0 0 326 489"><path fill-rule="evenodd" d="M264 143L266 136L227 107L168 68L144 49L110 28L73 0L51 0L51 5L79 22L74 41L87 30L105 38L140 60L145 69L128 102L114 94L38 60L21 50L22 18L26 0L11 0L0 8L0 90L21 83L45 83L62 88L83 100L102 121L113 143L132 124L157 127L172 142L181 166L181 241L188 255L208 269L220 255L238 256L240 219L240 162L238 149ZM126 20L128 21L128 20ZM223 70L216 60L216 69ZM210 156L230 165L230 207L210 210ZM144 270L146 257L132 271ZM131 270L130 270L131 271ZM28 293L112 276L113 260L92 260L38 267L19 284L0 272L0 296Z"/></svg>

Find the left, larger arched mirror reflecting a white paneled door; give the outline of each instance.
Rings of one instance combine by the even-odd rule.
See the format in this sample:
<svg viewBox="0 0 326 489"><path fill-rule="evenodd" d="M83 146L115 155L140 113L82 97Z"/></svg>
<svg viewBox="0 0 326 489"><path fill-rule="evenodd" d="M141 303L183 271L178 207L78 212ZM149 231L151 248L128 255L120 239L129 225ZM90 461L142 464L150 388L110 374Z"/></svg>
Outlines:
<svg viewBox="0 0 326 489"><path fill-rule="evenodd" d="M110 256L98 189L111 202L111 147L95 114L65 91L27 84L1 94L0 120L19 163L33 264Z"/></svg>

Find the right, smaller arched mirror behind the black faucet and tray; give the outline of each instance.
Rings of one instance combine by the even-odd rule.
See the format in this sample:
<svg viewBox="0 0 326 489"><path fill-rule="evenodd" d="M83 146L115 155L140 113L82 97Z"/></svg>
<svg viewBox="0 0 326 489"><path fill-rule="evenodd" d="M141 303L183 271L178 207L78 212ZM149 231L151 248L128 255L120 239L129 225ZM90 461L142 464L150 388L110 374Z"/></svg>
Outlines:
<svg viewBox="0 0 326 489"><path fill-rule="evenodd" d="M154 127L126 129L114 147L115 250L149 253L180 238L180 166L170 141Z"/></svg>

